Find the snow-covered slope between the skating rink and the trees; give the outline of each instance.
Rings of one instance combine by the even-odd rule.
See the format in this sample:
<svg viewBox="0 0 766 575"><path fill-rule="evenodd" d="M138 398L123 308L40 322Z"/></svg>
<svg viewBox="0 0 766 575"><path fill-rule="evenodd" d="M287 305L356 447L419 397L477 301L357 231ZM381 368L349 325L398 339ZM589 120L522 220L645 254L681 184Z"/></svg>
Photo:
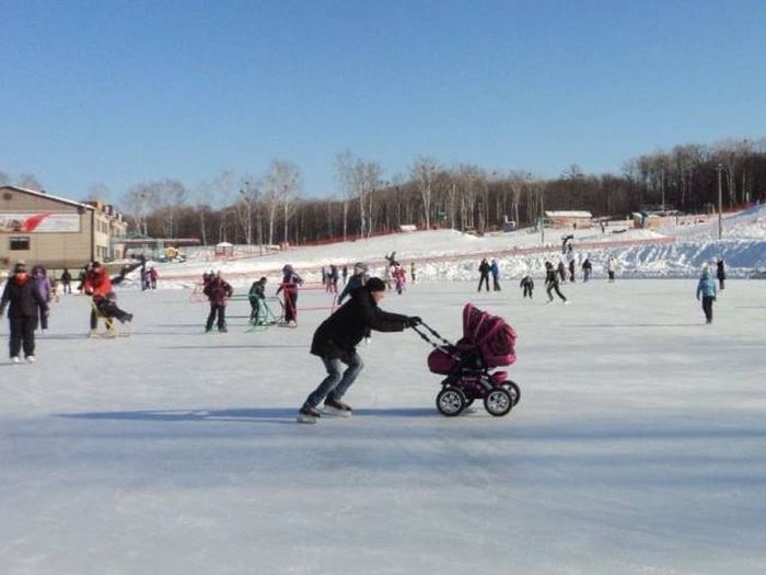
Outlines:
<svg viewBox="0 0 766 575"><path fill-rule="evenodd" d="M189 250L184 264L155 264L161 287L190 288L209 269L220 269L235 286L244 286L262 275L277 281L283 264L291 263L307 281L320 279L320 269L332 263L352 265L367 262L374 274L382 274L384 255L396 252L397 260L414 262L419 280L463 280L476 277L481 257L494 257L504 279L526 272L541 276L546 260L561 257L561 238L571 230L545 230L545 243L534 230L471 235L455 230L418 231L382 235L368 240L326 245L300 246L287 252L259 256L237 246L235 257L217 260L210 250ZM606 233L597 229L574 230L574 257L579 271L589 257L594 275L603 274L606 258L618 262L618 277L694 277L705 263L722 257L730 277L750 277L766 267L766 206L724 218L724 239L719 241L715 217L694 217L669 223L658 230L638 230L629 222L613 225ZM137 287L138 275L126 286Z"/></svg>

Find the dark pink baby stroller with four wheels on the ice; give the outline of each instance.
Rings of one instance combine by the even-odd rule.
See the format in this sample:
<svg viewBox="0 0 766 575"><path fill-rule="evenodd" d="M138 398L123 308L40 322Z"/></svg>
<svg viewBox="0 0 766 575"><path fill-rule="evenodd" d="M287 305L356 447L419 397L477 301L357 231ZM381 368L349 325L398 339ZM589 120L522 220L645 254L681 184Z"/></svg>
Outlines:
<svg viewBox="0 0 766 575"><path fill-rule="evenodd" d="M492 371L517 360L513 345L515 331L502 318L466 303L463 308L463 337L452 344L433 329L415 331L434 349L428 356L428 369L446 376L437 395L437 409L442 415L460 415L474 400L496 417L508 414L519 403L521 390L508 379L508 371Z"/></svg>

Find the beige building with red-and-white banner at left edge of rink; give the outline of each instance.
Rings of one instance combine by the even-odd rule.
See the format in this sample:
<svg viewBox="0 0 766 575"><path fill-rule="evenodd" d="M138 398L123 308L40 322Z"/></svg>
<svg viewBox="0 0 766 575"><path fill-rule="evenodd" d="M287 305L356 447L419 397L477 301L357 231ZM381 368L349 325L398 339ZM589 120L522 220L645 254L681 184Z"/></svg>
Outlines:
<svg viewBox="0 0 766 575"><path fill-rule="evenodd" d="M73 272L88 262L113 258L114 239L126 231L127 222L113 206L0 186L0 267L24 260Z"/></svg>

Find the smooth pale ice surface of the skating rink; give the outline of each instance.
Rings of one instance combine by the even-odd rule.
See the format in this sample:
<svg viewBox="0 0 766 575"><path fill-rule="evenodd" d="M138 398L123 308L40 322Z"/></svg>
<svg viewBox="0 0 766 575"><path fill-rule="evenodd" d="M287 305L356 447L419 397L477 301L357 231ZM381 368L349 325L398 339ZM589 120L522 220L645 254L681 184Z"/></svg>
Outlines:
<svg viewBox="0 0 766 575"><path fill-rule="evenodd" d="M207 335L189 291L126 289L132 336L88 340L88 301L62 298L38 363L0 363L0 571L766 573L766 284L730 281L710 326L694 280L567 285L571 306L517 285L383 301L450 338L466 301L506 317L507 417L441 416L408 331L361 348L355 416L315 426L294 415L327 310Z"/></svg>

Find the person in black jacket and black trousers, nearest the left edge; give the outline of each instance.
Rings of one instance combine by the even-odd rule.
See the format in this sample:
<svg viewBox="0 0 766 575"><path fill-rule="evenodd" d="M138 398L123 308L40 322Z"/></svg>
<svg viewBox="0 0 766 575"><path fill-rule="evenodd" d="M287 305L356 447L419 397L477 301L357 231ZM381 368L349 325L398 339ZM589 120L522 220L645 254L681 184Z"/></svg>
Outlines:
<svg viewBox="0 0 766 575"><path fill-rule="evenodd" d="M37 329L38 308L48 312L48 303L40 296L37 285L26 273L24 262L18 262L13 268L13 276L8 279L5 289L0 298L0 315L9 304L8 319L11 323L11 361L19 364L19 354L24 348L24 357L27 361L35 360L35 330Z"/></svg>

